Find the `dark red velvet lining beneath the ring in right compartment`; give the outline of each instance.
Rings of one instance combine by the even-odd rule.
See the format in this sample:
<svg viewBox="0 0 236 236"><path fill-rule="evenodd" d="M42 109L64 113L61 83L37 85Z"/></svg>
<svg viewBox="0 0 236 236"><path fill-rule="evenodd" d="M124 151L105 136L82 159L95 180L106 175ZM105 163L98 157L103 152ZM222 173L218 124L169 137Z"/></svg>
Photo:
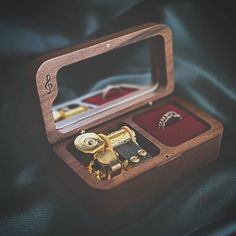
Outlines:
<svg viewBox="0 0 236 236"><path fill-rule="evenodd" d="M168 111L177 112L182 116L182 120L176 121L164 129L159 129L158 122ZM177 146L209 129L205 122L198 120L191 113L173 103L164 104L155 110L138 115L134 117L134 122L167 146Z"/></svg>

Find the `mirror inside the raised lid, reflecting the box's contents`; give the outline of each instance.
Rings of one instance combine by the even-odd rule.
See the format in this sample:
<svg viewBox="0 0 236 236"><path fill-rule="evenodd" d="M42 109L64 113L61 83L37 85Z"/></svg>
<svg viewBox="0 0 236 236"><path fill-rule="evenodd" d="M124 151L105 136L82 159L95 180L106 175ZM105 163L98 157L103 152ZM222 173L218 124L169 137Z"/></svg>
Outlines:
<svg viewBox="0 0 236 236"><path fill-rule="evenodd" d="M56 128L134 99L152 84L150 41L145 40L63 67L53 104Z"/></svg>

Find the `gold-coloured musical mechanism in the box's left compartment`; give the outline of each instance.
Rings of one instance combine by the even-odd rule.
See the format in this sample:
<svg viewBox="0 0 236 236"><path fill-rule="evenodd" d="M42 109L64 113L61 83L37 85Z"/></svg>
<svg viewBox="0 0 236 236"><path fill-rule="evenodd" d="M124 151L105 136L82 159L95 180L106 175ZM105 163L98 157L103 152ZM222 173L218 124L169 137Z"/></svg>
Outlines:
<svg viewBox="0 0 236 236"><path fill-rule="evenodd" d="M88 158L88 170L99 180L111 179L122 170L135 166L151 156L136 141L136 135L128 126L108 135L84 133L79 135L74 145Z"/></svg>

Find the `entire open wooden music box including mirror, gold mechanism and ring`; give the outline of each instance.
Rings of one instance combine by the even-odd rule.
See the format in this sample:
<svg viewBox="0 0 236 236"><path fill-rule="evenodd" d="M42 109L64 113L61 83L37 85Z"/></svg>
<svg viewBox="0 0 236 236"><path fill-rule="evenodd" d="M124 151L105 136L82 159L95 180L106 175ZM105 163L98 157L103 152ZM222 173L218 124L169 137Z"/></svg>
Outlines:
<svg viewBox="0 0 236 236"><path fill-rule="evenodd" d="M117 213L218 156L221 123L169 96L173 52L165 25L41 58L36 84L48 141L77 175L73 190L96 212Z"/></svg>

